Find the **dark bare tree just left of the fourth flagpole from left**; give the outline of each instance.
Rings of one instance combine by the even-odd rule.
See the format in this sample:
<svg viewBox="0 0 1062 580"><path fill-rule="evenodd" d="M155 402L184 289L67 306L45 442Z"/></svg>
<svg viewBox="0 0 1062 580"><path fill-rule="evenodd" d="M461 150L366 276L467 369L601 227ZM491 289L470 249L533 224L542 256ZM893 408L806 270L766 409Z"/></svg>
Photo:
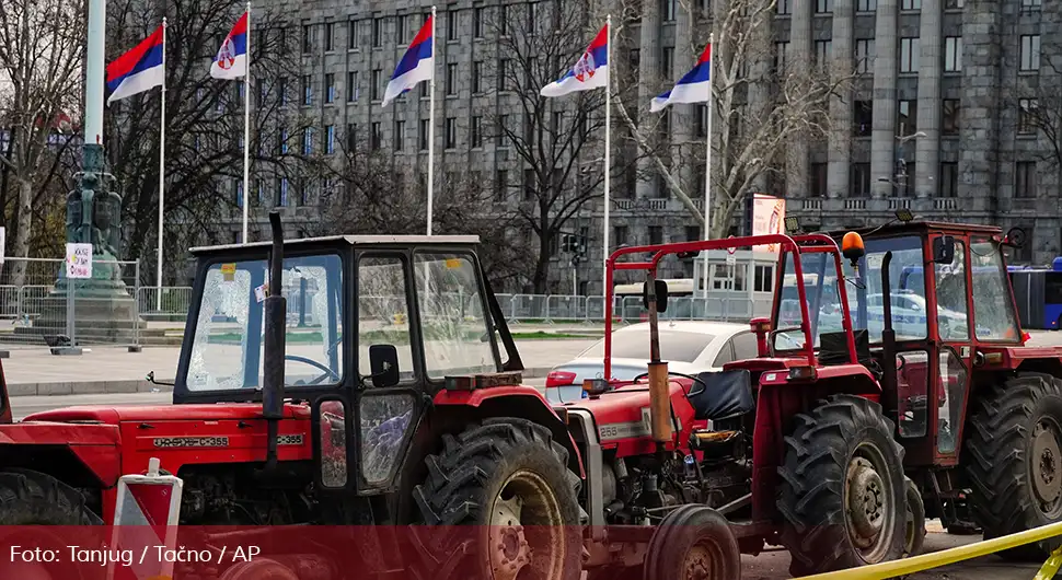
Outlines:
<svg viewBox="0 0 1062 580"><path fill-rule="evenodd" d="M494 86L499 113L487 127L522 170L519 185L499 184L516 223L536 237L531 285L546 293L551 247L565 225L603 198L604 90L547 98L540 90L561 78L604 24L591 2L500 7L486 26L497 39ZM484 92L488 89L484 88ZM614 158L611 171L621 170Z"/></svg>

